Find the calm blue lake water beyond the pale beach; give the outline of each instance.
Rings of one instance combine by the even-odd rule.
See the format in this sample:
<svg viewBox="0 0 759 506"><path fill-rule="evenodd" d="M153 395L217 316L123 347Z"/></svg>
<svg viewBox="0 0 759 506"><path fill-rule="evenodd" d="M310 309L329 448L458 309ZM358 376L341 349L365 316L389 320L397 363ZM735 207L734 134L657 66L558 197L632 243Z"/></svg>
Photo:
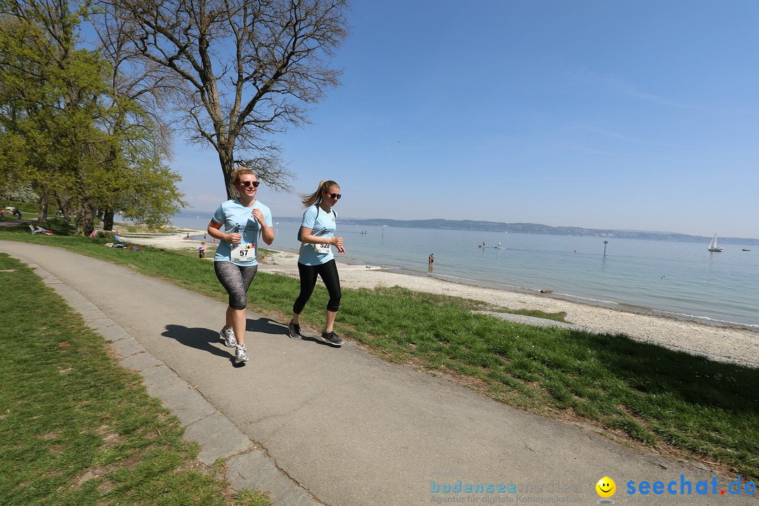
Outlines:
<svg viewBox="0 0 759 506"><path fill-rule="evenodd" d="M184 212L174 225L204 230L210 215ZM299 225L294 218L280 218L272 247L297 251ZM340 222L338 234L345 240L343 259L351 262L491 288L551 290L551 297L759 330L759 249L742 251L751 246L723 245L722 253L710 253L708 240L611 238L604 255L598 237L361 228ZM488 247L477 247L483 241ZM494 248L499 242L501 249ZM427 272L430 253L435 253L432 273Z"/></svg>

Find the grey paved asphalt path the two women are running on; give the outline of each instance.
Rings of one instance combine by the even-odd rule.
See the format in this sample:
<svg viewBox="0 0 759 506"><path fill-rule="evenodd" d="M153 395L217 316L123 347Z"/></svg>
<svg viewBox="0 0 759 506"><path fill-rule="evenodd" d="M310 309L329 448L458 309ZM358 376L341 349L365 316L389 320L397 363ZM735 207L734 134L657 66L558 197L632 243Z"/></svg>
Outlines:
<svg viewBox="0 0 759 506"><path fill-rule="evenodd" d="M719 476L717 495L696 495L697 482L714 476L703 464L523 413L350 341L292 340L286 322L257 313L247 314L250 361L235 366L219 339L224 303L55 247L0 240L0 251L33 266L113 341L121 363L200 443L201 460L224 457L233 486L269 490L275 504L596 504L604 476L616 482L617 504L759 504L757 495L720 495L731 479ZM692 495L626 493L631 480L675 480L680 493L681 479ZM459 482L516 492L444 492Z"/></svg>

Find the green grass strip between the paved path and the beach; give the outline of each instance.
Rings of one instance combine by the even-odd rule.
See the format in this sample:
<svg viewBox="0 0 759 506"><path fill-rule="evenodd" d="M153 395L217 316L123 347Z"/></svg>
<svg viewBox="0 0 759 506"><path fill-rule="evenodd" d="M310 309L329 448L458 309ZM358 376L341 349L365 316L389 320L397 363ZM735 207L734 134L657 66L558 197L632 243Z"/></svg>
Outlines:
<svg viewBox="0 0 759 506"><path fill-rule="evenodd" d="M0 238L11 236L0 232ZM226 300L212 262L200 262L193 252L113 250L82 237L17 238L45 244L54 239L79 253ZM297 280L260 273L249 309L286 321L297 294ZM320 325L327 298L317 286L301 322ZM483 309L492 308L397 287L344 289L337 328L386 360L452 374L506 404L580 420L631 445L759 478L759 370L624 335L531 327L471 313Z"/></svg>

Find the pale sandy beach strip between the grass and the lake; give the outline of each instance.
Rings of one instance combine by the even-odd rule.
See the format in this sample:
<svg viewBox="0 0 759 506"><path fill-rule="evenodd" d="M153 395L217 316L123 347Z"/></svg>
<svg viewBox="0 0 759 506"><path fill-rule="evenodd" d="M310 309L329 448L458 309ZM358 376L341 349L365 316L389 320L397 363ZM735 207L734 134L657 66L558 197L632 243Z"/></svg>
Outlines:
<svg viewBox="0 0 759 506"><path fill-rule="evenodd" d="M191 231L190 234L203 234L203 231ZM128 244L148 244L171 249L197 250L200 246L200 241L187 240L183 237L184 235L157 238L124 237L124 240ZM213 247L213 243L206 241L206 246ZM213 256L209 255L210 258ZM296 253L277 251L267 256L259 269L261 272L297 278L297 263ZM357 266L339 262L339 272L344 288L400 286L432 294L482 300L493 306L511 310L542 310L547 313L564 311L567 322L592 332L625 334L637 341L658 344L673 350L710 357L713 360L759 367L759 332L747 328L707 325L665 316L609 309L559 300L550 295L541 296L474 287L432 277L399 274L392 272L392 269L381 269L376 266Z"/></svg>

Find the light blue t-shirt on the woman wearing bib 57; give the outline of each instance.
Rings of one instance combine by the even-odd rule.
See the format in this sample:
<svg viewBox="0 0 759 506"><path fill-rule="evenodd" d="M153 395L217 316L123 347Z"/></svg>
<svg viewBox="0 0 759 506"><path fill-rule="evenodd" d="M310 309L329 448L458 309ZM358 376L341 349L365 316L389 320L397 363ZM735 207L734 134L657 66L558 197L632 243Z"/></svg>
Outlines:
<svg viewBox="0 0 759 506"><path fill-rule="evenodd" d="M224 231L225 234L235 232L236 228L236 231L242 235L242 240L240 244L229 244L222 240L219 247L216 248L216 255L213 257L214 262L232 262L236 266L258 265L258 241L261 224L253 217L254 209L261 209L266 225L271 226L272 212L258 200L250 207L243 206L238 199L227 200L219 206L219 209L216 209L213 218L211 218L213 222L221 223L220 230ZM234 259L232 259L233 254Z"/></svg>

